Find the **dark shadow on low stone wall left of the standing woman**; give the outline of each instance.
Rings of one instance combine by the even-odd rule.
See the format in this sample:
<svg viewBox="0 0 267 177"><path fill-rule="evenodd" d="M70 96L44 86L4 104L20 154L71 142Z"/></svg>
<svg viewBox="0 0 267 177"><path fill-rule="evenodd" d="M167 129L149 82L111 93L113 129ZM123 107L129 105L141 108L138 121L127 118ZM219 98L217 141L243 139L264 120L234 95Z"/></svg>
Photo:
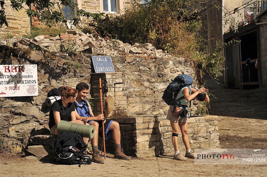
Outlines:
<svg viewBox="0 0 267 177"><path fill-rule="evenodd" d="M159 155L164 154L164 148L163 148L163 142L162 142L162 135L159 130L159 122L155 118L155 123L152 128L152 133L149 139L148 147L152 148L155 146L154 152L155 152L155 157L159 157Z"/></svg>

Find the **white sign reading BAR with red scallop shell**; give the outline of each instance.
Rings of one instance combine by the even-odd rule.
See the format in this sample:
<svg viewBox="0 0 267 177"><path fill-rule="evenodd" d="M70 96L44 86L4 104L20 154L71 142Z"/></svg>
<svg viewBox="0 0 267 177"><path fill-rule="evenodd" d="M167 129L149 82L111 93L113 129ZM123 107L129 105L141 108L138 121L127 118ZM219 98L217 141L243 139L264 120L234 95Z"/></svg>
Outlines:
<svg viewBox="0 0 267 177"><path fill-rule="evenodd" d="M0 97L37 96L37 65L0 65Z"/></svg>

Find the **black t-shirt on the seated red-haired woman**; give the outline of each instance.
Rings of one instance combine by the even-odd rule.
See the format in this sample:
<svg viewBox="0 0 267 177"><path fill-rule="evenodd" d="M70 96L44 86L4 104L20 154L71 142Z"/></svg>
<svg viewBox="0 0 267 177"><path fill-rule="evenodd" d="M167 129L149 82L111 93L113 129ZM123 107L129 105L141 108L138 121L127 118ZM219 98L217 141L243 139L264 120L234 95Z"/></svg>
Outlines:
<svg viewBox="0 0 267 177"><path fill-rule="evenodd" d="M72 111L75 111L75 105L74 103L69 102L68 106L65 108L62 104L62 100L57 100L53 102L49 113L49 129L56 125L53 110L58 111L60 113L60 120L70 122L70 114Z"/></svg>

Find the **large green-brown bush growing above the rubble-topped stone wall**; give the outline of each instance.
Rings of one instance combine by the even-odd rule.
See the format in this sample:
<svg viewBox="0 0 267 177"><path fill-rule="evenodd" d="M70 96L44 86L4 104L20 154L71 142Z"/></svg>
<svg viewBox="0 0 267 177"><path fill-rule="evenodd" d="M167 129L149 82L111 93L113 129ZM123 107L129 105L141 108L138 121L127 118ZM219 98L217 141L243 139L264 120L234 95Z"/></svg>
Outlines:
<svg viewBox="0 0 267 177"><path fill-rule="evenodd" d="M199 13L207 4L217 6L206 0L151 0L143 5L133 1L133 7L120 17L107 15L89 26L112 39L152 43L157 49L189 59L199 73L199 81L203 73L218 78L223 71L221 47L217 45L207 54L199 32Z"/></svg>

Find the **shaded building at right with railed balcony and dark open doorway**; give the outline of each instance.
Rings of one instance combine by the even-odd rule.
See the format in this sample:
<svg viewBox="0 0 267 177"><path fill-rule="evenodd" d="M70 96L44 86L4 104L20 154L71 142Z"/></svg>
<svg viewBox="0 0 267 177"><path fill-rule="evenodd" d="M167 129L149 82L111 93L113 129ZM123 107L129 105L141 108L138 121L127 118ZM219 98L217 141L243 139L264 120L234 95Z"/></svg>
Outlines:
<svg viewBox="0 0 267 177"><path fill-rule="evenodd" d="M223 5L222 9L207 4L202 12L201 34L206 41L207 52L215 48L216 42L222 46L222 43L231 40L240 41L222 50L226 58L224 83L228 88L266 87L266 1L220 0L218 3L219 6ZM227 14L227 17L222 18L222 13ZM228 20L239 25L237 31L233 30L233 24ZM246 65L247 60L250 60L249 65ZM255 67L256 61L258 68Z"/></svg>

